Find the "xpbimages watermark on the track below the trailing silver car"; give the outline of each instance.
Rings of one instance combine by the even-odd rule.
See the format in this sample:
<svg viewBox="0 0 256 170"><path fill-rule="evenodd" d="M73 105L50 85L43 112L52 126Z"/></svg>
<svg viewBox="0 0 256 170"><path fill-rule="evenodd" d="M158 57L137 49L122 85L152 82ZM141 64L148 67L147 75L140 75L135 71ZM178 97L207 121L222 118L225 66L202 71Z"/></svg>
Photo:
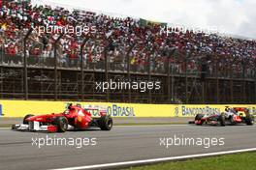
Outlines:
<svg viewBox="0 0 256 170"><path fill-rule="evenodd" d="M184 135L174 135L172 137L160 137L159 145L168 149L171 146L199 146L210 148L212 146L225 145L225 138L217 137L185 137Z"/></svg>

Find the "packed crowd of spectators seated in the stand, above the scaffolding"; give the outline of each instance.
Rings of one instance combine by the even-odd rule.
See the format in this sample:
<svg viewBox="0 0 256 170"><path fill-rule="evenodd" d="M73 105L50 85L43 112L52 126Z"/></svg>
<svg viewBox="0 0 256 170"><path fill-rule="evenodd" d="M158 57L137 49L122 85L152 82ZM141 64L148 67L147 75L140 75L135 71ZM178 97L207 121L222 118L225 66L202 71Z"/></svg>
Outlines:
<svg viewBox="0 0 256 170"><path fill-rule="evenodd" d="M60 7L32 6L29 1L0 0L0 52L14 57L11 63L8 61L6 64L20 65L23 38L30 28L34 28L37 31L33 31L27 41L26 54L33 57L29 63L37 66L45 62L44 65L52 66L54 42L60 33L45 31L39 34L42 26L96 28L93 34L69 32L63 35L56 44L60 67L80 67L80 45L89 37L83 49L84 67L87 69L104 69L105 55L108 55L112 71L126 71L126 55L130 51L132 71L148 71L150 67L153 72L166 72L166 64L170 60L172 69L178 73L185 69L200 71L202 61L208 64L211 73L216 71L216 63L218 71L232 68L240 74L243 71L241 64L246 64L245 71L255 73L255 41L182 32L177 28L170 28L171 32L167 32L159 24L142 25L139 19L131 17L113 18L82 10L70 12Z"/></svg>

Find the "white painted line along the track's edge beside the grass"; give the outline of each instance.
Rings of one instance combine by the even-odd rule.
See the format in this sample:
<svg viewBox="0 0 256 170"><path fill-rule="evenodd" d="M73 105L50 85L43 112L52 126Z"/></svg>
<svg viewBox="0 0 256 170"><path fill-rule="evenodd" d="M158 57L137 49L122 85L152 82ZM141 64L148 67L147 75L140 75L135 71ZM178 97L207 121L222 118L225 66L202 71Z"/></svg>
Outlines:
<svg viewBox="0 0 256 170"><path fill-rule="evenodd" d="M224 151L224 152L216 152L216 153L208 153L208 154L199 154L199 155L190 155L190 156L172 156L172 157L151 158L151 159L144 159L144 160L106 163L106 164L98 164L98 165L85 165L85 166L59 168L59 169L52 169L52 170L100 169L100 168L108 168L108 167L118 167L118 166L136 165L136 164L138 165L138 164L146 164L146 163L156 163L156 162L168 161L168 160L180 160L180 159L205 157L205 156L229 155L229 154L252 152L252 151L256 151L256 148L234 150L234 151Z"/></svg>

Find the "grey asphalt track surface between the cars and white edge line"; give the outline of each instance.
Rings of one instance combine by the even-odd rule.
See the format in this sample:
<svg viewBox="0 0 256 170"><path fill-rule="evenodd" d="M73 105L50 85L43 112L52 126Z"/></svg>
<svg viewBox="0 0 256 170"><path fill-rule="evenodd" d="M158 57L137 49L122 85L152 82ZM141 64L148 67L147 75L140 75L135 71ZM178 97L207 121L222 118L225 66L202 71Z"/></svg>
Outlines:
<svg viewBox="0 0 256 170"><path fill-rule="evenodd" d="M32 138L97 138L95 146L32 146ZM160 146L160 138L224 138L223 146ZM194 125L113 127L65 133L20 132L0 129L0 169L52 169L187 156L256 148L256 126L198 127Z"/></svg>

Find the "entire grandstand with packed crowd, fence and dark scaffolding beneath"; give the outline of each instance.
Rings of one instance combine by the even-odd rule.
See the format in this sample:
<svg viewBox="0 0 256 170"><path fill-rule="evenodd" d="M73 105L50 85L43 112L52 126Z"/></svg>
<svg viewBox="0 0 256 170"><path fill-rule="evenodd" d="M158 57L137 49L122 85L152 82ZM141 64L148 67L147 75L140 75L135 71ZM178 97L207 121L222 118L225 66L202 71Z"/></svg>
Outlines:
<svg viewBox="0 0 256 170"><path fill-rule="evenodd" d="M39 34L42 26L86 26L89 33ZM161 23L144 19L0 0L0 98L256 102L254 40L161 30ZM95 88L95 82L110 79L160 81L161 89Z"/></svg>

